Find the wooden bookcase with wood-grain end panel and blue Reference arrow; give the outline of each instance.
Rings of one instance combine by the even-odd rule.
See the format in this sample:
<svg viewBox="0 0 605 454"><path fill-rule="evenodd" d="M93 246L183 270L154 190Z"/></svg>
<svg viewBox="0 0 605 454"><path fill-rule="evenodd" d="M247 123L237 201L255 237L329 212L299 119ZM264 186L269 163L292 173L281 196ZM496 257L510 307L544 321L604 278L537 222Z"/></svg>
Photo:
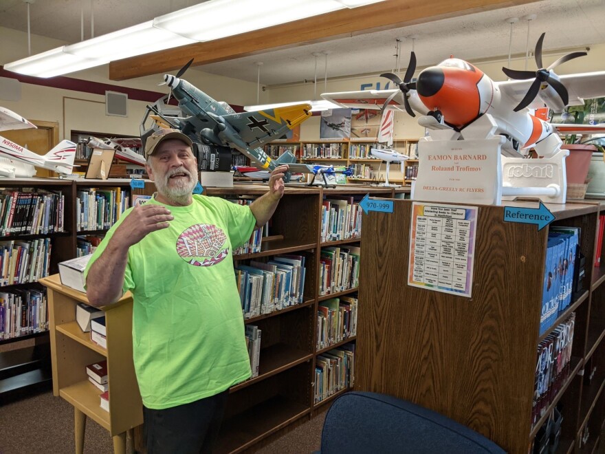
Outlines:
<svg viewBox="0 0 605 454"><path fill-rule="evenodd" d="M503 221L478 206L472 298L407 285L412 201L364 217L355 389L410 400L527 453L562 404L557 453L603 452L605 273L593 268L599 204L547 204L554 226L580 227L586 273L569 307L541 336L549 228ZM536 202L507 202L536 207ZM569 378L531 426L538 343L575 312Z"/></svg>

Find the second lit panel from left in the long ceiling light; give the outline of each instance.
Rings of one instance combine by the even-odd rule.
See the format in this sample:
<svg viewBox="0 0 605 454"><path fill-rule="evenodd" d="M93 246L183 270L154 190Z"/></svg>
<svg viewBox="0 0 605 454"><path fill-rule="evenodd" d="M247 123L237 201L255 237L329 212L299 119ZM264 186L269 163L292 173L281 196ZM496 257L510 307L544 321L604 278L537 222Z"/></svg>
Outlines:
<svg viewBox="0 0 605 454"><path fill-rule="evenodd" d="M153 21L147 21L117 32L67 45L65 52L83 57L94 55L102 60L114 61L191 43L195 43L195 41L155 28Z"/></svg>

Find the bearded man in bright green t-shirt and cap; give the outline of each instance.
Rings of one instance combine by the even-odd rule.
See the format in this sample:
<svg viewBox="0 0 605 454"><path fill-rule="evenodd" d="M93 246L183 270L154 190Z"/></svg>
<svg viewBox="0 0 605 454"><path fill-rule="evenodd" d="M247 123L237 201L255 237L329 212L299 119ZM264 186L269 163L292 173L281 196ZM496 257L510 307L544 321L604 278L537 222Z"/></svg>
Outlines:
<svg viewBox="0 0 605 454"><path fill-rule="evenodd" d="M164 129L146 140L157 193L126 210L91 257L91 305L133 294L133 359L147 451L211 452L232 385L250 378L232 248L273 215L287 166L250 206L192 195L191 140Z"/></svg>

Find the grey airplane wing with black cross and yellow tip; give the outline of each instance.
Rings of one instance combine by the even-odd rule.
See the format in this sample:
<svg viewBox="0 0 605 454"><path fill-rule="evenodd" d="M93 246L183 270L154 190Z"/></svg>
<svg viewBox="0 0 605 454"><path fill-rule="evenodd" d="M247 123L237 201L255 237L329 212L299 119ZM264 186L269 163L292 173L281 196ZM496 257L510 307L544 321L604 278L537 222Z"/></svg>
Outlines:
<svg viewBox="0 0 605 454"><path fill-rule="evenodd" d="M283 136L311 116L310 104L297 104L275 109L224 115L223 118L237 131L250 147L261 147Z"/></svg>

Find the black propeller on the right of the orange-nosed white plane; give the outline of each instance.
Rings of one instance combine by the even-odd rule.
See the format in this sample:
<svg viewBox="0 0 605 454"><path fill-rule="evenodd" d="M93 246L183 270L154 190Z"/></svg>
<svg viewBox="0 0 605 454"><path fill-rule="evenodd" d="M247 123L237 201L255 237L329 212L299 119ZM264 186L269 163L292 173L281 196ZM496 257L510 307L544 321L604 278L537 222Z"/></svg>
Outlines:
<svg viewBox="0 0 605 454"><path fill-rule="evenodd" d="M502 68L504 74L514 80L527 80L535 77L533 83L531 83L531 86L527 91L527 94L525 94L525 97L521 100L521 102L519 102L518 106L515 107L514 111L516 112L520 111L521 109L525 109L525 107L531 104L531 102L536 98L536 96L538 96L540 86L543 83L547 83L548 85L553 87L553 89L560 96L563 104L567 105L567 102L569 101L569 94L567 93L567 89L560 82L556 74L551 74L551 69L557 67L558 65L561 65L562 63L565 63L566 61L573 60L573 58L586 55L586 52L571 52L571 54L566 54L558 58L555 63L553 63L547 68L544 68L544 66L542 65L542 41L544 41L544 33L540 35L540 39L538 39L538 43L536 43L536 51L534 52L534 55L536 56L536 65L538 65L539 68L538 71L517 71L516 69L509 69L505 67Z"/></svg>

